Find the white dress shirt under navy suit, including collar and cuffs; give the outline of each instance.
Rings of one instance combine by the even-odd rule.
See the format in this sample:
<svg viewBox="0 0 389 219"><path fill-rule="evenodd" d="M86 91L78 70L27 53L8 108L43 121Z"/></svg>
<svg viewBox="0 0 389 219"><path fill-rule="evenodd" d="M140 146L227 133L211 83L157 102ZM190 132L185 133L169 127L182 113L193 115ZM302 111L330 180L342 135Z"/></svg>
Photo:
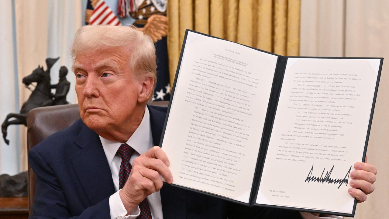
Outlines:
<svg viewBox="0 0 389 219"><path fill-rule="evenodd" d="M116 155L117 150L119 149L122 143L116 141L107 140L101 136L100 141L103 145L105 156L107 156L107 161L109 163L109 168L112 173L112 180L114 181L116 193L112 194L109 197L109 210L111 219L135 219L140 214L139 207L133 209L130 212L130 215L127 215L127 210L124 208L123 202L119 196L119 169L121 164L120 155ZM151 124L150 124L150 113L147 107L145 108L145 113L142 118L142 122L138 126L137 130L132 134L130 139L126 141L128 145L134 148L135 153L130 158L130 164L135 158L139 157L140 154L144 154L150 148L152 148L152 134L151 134ZM161 204L161 194L158 192L152 193L147 196L147 201L149 202L149 207L151 211L151 216L153 219L163 219L162 214L162 204ZM300 212L301 216L304 219L342 219L340 216L325 215L324 217L317 217L311 213Z"/></svg>

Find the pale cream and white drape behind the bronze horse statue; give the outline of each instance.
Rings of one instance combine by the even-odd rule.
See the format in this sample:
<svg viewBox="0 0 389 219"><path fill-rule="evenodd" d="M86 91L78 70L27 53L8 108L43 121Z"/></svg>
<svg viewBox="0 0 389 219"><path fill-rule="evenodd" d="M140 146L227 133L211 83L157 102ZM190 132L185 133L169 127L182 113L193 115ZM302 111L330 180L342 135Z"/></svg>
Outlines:
<svg viewBox="0 0 389 219"><path fill-rule="evenodd" d="M77 103L72 74L70 46L75 32L82 26L82 0L15 0L16 54L19 83L19 106L30 96L22 79L43 65L47 57L61 57L51 69L51 83L58 83L58 71L65 65L69 73L70 91L67 100ZM1 104L1 103L0 103ZM19 110L19 109L18 109ZM20 129L20 170L27 170L27 129Z"/></svg>

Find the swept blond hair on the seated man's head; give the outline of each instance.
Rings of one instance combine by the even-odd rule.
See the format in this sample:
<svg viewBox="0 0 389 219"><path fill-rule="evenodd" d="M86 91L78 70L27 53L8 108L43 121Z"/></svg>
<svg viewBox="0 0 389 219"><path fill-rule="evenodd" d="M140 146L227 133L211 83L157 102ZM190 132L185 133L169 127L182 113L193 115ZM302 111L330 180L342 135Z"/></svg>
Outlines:
<svg viewBox="0 0 389 219"><path fill-rule="evenodd" d="M156 51L152 39L135 26L87 25L77 30L71 55L86 54L112 48L129 48L129 64L138 79L157 81Z"/></svg>

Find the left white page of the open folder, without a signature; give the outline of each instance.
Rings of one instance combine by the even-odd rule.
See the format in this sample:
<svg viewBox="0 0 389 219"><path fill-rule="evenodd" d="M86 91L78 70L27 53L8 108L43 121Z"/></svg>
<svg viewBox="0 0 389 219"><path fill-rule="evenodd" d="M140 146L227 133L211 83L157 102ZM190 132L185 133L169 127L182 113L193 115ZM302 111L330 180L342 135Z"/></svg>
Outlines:
<svg viewBox="0 0 389 219"><path fill-rule="evenodd" d="M276 63L188 33L162 145L174 184L249 202Z"/></svg>

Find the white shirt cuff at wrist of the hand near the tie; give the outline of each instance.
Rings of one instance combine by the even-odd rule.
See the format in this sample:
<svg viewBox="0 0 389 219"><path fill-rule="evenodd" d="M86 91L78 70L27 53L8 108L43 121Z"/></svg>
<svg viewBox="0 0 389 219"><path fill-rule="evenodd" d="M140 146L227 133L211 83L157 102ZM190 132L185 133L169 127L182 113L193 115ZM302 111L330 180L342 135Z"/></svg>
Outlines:
<svg viewBox="0 0 389 219"><path fill-rule="evenodd" d="M120 191L120 190L119 190ZM127 210L124 208L123 202L121 201L119 191L112 194L109 197L109 212L111 214L111 219L135 219L140 215L139 206L134 208L130 215L127 215Z"/></svg>

